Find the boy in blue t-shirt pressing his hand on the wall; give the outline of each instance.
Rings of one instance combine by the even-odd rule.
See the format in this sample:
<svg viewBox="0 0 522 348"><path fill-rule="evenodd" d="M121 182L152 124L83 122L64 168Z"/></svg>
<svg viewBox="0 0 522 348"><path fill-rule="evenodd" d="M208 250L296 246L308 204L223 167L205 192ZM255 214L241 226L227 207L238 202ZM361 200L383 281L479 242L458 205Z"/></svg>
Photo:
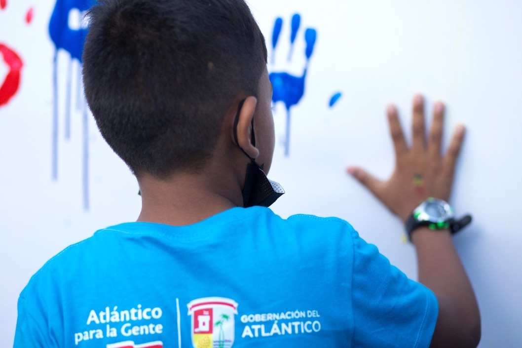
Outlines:
<svg viewBox="0 0 522 348"><path fill-rule="evenodd" d="M450 237L458 223L448 215L433 231L412 217L428 197L449 198L464 129L441 157L442 104L426 147L416 97L411 149L389 107L397 166L387 182L349 169L407 223L424 286L345 221L285 220L265 207L282 193L264 175L271 86L243 0L104 0L89 19L86 97L143 208L32 277L15 347L478 344L477 303Z"/></svg>

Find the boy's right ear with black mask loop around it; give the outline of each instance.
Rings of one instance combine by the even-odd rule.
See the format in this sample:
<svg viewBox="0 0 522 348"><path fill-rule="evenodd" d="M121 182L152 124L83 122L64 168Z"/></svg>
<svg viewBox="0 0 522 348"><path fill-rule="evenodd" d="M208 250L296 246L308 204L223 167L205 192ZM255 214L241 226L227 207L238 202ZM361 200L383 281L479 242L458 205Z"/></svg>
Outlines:
<svg viewBox="0 0 522 348"><path fill-rule="evenodd" d="M243 106L238 110L238 125L236 127L237 145L252 158L259 156L259 150L252 144L252 120L254 119L256 105L257 99L255 97L250 96L245 99ZM231 131L232 142L235 143L234 129Z"/></svg>

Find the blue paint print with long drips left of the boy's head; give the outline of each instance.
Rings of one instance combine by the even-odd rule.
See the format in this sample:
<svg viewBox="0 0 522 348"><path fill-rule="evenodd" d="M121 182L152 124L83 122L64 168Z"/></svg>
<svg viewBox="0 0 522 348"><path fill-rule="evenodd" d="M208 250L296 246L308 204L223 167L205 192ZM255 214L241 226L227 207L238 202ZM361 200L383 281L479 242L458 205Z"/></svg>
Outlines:
<svg viewBox="0 0 522 348"><path fill-rule="evenodd" d="M81 113L82 123L82 193L83 206L85 210L89 209L89 140L88 140L88 109L81 92L81 53L84 46L87 30L85 28L73 29L69 27L69 16L72 11L81 14L92 6L94 0L56 0L51 19L49 21L49 36L54 43L54 67L53 67L53 121L52 121L52 165L51 176L53 180L58 179L58 52L66 51L69 54L67 62L67 86L65 100L65 120L64 120L64 138L66 140L71 137L71 109L72 109L72 75L73 61L78 62L78 71L76 72L76 111Z"/></svg>

